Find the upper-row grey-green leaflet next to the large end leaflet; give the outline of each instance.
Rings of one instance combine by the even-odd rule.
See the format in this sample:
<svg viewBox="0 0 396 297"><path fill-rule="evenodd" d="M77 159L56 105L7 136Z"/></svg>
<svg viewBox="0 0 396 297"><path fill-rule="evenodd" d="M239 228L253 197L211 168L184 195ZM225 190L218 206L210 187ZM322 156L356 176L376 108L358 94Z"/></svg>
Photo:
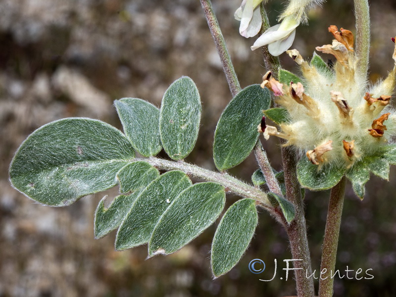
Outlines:
<svg viewBox="0 0 396 297"><path fill-rule="evenodd" d="M123 98L114 101L124 133L132 146L145 157L162 148L159 140L159 109L145 100Z"/></svg>

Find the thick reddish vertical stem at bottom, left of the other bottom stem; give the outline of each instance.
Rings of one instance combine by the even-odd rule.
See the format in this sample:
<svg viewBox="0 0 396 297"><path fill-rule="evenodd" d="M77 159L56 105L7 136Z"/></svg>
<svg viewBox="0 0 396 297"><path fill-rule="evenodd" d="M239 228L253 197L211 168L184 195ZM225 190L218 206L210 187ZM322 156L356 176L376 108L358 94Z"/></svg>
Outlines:
<svg viewBox="0 0 396 297"><path fill-rule="evenodd" d="M290 247L295 261L296 289L298 297L313 297L315 294L313 278L306 275L312 274L311 256L308 247L304 204L301 198L300 185L296 173L296 154L291 148L282 148L283 170L285 173L286 197L295 206L296 216L293 222L286 227Z"/></svg>

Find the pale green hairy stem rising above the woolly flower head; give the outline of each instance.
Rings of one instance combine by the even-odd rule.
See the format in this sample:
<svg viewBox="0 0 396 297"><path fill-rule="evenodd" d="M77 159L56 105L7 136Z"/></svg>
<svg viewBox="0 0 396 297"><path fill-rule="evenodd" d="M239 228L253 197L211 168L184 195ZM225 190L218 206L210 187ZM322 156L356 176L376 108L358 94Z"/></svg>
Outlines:
<svg viewBox="0 0 396 297"><path fill-rule="evenodd" d="M354 0L356 18L357 69L366 75L370 56L370 10L368 0Z"/></svg>

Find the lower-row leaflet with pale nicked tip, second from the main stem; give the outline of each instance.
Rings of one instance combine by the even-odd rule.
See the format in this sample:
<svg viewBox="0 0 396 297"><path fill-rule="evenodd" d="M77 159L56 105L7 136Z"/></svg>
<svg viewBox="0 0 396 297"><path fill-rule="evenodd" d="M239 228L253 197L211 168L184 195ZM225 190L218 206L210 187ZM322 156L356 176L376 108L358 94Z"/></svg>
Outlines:
<svg viewBox="0 0 396 297"><path fill-rule="evenodd" d="M198 183L183 191L159 219L148 244L148 255L170 254L184 247L220 215L224 187Z"/></svg>

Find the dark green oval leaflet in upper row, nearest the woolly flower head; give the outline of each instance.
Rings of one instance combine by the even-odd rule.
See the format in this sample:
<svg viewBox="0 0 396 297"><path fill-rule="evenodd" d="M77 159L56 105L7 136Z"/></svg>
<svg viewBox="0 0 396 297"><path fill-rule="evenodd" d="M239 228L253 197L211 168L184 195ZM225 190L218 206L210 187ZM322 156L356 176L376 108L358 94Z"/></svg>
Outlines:
<svg viewBox="0 0 396 297"><path fill-rule="evenodd" d="M224 109L214 134L213 158L219 170L226 170L247 158L257 142L257 125L262 110L268 109L268 89L251 85L239 92Z"/></svg>

